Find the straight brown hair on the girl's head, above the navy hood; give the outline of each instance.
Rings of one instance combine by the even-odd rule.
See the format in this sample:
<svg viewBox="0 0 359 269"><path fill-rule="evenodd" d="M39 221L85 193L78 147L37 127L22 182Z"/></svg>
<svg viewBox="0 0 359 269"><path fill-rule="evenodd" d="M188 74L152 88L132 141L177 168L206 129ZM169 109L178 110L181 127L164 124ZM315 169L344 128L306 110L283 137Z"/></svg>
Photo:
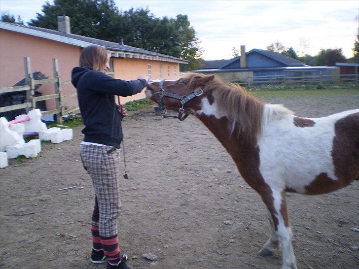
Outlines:
<svg viewBox="0 0 359 269"><path fill-rule="evenodd" d="M108 51L104 47L91 45L85 47L80 54L79 66L91 67L103 72L107 64Z"/></svg>

